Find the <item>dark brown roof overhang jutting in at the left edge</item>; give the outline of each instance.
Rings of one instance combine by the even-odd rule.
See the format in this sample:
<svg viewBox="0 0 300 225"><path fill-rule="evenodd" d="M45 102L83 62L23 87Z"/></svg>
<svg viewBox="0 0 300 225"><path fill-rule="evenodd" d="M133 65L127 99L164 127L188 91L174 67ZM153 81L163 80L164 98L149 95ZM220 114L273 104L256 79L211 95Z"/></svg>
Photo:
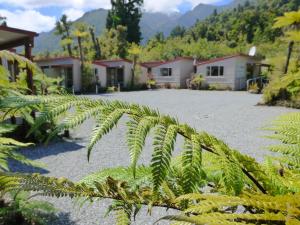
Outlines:
<svg viewBox="0 0 300 225"><path fill-rule="evenodd" d="M0 26L0 50L19 47L22 45L34 46L34 37L38 34L32 31L12 27Z"/></svg>

